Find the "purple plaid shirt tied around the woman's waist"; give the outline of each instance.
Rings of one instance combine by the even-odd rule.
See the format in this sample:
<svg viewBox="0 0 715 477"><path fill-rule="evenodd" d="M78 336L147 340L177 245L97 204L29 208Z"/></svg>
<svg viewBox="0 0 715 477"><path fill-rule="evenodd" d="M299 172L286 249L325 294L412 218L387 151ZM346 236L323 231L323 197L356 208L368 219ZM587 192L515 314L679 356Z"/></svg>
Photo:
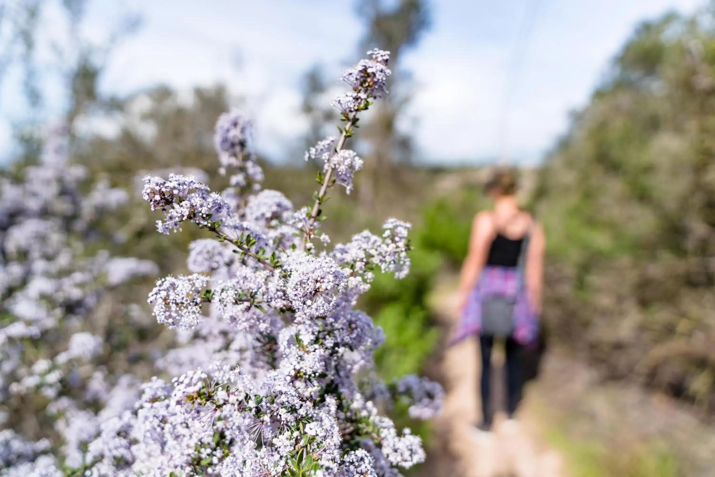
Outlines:
<svg viewBox="0 0 715 477"><path fill-rule="evenodd" d="M538 333L538 318L529 304L522 277L518 267L484 267L477 284L469 294L450 344L454 345L480 333L482 302L485 298L494 296L514 300L513 338L522 345L533 343Z"/></svg>

